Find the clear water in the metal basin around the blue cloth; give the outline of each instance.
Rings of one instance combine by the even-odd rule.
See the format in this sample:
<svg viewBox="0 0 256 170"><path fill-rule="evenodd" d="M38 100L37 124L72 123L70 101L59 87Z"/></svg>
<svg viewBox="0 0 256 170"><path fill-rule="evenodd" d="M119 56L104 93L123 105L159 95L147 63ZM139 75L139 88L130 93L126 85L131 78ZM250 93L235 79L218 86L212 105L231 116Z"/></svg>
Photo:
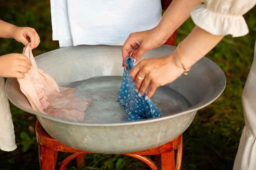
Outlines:
<svg viewBox="0 0 256 170"><path fill-rule="evenodd" d="M84 122L115 123L123 122L126 115L117 103L122 79L123 76L95 76L60 86L76 88L75 96L92 99L91 105L85 110ZM157 88L151 100L162 116L191 107L182 94L167 86Z"/></svg>

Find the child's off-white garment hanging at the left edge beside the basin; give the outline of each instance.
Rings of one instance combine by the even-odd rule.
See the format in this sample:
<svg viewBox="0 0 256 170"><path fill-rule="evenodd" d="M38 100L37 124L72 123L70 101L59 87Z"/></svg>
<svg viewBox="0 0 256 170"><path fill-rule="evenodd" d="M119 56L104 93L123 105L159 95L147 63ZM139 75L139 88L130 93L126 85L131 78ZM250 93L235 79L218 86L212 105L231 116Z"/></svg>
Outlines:
<svg viewBox="0 0 256 170"><path fill-rule="evenodd" d="M13 151L16 148L9 101L4 90L4 78L0 76L0 149Z"/></svg>

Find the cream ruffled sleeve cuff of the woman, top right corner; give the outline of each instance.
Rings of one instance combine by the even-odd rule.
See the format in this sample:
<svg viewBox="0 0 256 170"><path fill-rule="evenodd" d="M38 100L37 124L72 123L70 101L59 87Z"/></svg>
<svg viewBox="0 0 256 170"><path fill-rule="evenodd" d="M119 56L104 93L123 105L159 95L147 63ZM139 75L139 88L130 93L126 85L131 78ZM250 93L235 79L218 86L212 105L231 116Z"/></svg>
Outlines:
<svg viewBox="0 0 256 170"><path fill-rule="evenodd" d="M249 32L243 15L252 9L256 0L202 0L191 11L195 25L213 35L240 37Z"/></svg>

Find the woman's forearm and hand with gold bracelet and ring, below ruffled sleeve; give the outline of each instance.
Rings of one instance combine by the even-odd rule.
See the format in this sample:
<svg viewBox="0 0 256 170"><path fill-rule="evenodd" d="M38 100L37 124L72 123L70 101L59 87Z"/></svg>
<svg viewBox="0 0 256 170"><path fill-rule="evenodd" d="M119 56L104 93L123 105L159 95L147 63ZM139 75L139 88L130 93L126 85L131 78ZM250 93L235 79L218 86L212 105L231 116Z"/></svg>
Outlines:
<svg viewBox="0 0 256 170"><path fill-rule="evenodd" d="M222 35L212 35L195 26L193 31L180 43L180 57L184 66L190 68L214 48L223 37ZM143 96L148 89L146 98L150 98L157 87L171 83L182 73L184 73L184 68L178 56L177 48L167 56L144 59L130 70L130 76L135 81L139 95ZM138 79L137 75L145 79Z"/></svg>

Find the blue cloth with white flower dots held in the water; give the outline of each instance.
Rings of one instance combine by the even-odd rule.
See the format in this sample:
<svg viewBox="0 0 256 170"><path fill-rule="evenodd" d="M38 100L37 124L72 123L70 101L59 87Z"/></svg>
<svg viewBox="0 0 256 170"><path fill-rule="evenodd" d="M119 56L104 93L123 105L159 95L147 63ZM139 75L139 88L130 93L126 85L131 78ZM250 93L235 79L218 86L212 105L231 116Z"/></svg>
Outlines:
<svg viewBox="0 0 256 170"><path fill-rule="evenodd" d="M130 77L130 70L134 66L132 57L126 59L128 70L124 69L124 78L120 87L117 102L125 109L126 119L124 121L135 121L160 117L159 110L151 99L145 100L144 96L139 97L135 91L135 83Z"/></svg>

